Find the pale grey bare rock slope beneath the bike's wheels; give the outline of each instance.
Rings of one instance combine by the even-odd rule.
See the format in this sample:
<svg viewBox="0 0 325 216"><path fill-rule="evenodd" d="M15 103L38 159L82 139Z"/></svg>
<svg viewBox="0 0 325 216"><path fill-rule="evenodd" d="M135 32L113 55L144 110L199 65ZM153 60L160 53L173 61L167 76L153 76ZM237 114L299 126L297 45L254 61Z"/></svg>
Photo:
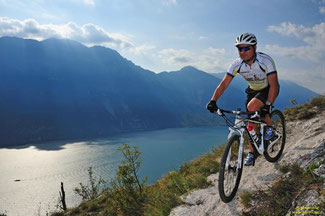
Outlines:
<svg viewBox="0 0 325 216"><path fill-rule="evenodd" d="M174 208L171 216L207 216L207 215L241 215L243 206L238 194L243 191L255 191L267 188L280 177L280 164L298 162L302 167L313 163L323 164L314 170L314 174L325 179L325 111L315 118L287 123L287 141L283 156L277 163L269 163L259 157L254 167L244 167L236 197L230 203L223 203L218 192L218 173L209 176L212 186L193 191L183 196L183 205ZM323 190L325 185L323 185ZM316 190L305 191L292 203L287 215L303 212L302 207L317 208L321 200ZM309 209L311 210L311 209ZM317 211L317 209L313 209ZM321 211L322 209L318 209Z"/></svg>

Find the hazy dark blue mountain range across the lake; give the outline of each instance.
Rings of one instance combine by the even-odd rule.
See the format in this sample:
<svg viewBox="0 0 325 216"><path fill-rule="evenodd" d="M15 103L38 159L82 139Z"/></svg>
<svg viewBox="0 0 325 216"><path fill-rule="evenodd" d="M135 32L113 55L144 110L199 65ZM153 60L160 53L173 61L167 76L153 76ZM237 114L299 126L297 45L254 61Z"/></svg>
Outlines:
<svg viewBox="0 0 325 216"><path fill-rule="evenodd" d="M218 123L205 105L220 78L194 67L155 74L109 48L16 37L0 38L0 65L0 146ZM245 95L222 97L230 109Z"/></svg>

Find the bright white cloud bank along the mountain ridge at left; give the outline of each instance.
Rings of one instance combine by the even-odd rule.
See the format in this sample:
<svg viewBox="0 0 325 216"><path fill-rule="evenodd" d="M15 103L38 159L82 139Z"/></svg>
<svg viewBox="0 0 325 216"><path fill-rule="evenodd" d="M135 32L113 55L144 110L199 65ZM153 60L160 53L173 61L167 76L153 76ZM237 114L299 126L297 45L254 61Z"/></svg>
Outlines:
<svg viewBox="0 0 325 216"><path fill-rule="evenodd" d="M86 45L103 45L121 49L134 48L126 35L107 32L100 26L88 23L82 26L74 22L61 25L39 24L35 19L17 20L0 17L0 36L17 36L44 40L68 38Z"/></svg>

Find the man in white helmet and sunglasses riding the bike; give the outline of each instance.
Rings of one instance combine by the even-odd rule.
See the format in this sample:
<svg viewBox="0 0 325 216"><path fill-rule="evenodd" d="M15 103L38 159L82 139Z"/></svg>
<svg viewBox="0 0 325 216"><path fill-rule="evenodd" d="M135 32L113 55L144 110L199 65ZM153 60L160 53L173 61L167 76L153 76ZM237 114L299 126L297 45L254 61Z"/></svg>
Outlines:
<svg viewBox="0 0 325 216"><path fill-rule="evenodd" d="M273 59L264 53L256 52L257 39L252 33L243 33L236 38L235 46L238 49L239 58L229 66L227 73L216 88L207 109L214 112L218 109L217 100L227 89L236 74L240 74L248 82L246 89L246 109L249 112L261 110L261 117L268 126L272 126L269 114L272 104L279 93L277 71ZM249 123L248 128L256 131L256 124ZM270 137L272 133L269 134ZM245 159L245 165L254 165L256 155L252 145L249 145L249 154Z"/></svg>

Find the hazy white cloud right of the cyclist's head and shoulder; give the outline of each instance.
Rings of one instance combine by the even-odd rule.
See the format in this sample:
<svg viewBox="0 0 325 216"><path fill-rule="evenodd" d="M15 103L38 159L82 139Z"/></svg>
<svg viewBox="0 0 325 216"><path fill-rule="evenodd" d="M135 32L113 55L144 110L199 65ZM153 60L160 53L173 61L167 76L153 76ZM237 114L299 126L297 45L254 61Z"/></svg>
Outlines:
<svg viewBox="0 0 325 216"><path fill-rule="evenodd" d="M325 23L312 27L290 22L269 26L268 31L302 41L303 45L288 47L266 45L266 52L280 57L282 76L318 93L325 93Z"/></svg>

